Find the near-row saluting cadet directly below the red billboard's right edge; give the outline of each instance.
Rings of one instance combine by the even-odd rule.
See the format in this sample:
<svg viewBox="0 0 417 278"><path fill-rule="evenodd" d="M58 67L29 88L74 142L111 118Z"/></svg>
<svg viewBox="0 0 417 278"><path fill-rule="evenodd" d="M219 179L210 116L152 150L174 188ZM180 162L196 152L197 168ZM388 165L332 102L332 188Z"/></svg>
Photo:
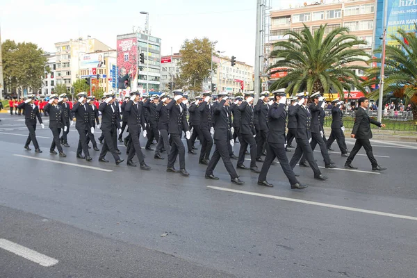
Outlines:
<svg viewBox="0 0 417 278"><path fill-rule="evenodd" d="M129 133L131 135L131 149L129 150L129 155L127 156L127 165L136 167L136 164L133 163L133 157L138 156L140 169L142 170L151 170L145 163L145 158L142 154L142 148L140 147L140 127L143 129L143 137L146 138L146 129L145 129L145 115L143 108L139 104L140 92L131 92L130 100L124 106L124 111L128 113L127 125L129 126Z"/></svg>

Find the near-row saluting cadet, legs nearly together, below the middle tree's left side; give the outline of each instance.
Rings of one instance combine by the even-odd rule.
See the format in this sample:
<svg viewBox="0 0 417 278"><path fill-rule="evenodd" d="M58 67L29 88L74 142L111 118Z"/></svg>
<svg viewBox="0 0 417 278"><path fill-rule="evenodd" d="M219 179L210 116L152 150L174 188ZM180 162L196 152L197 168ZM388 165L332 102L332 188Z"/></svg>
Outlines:
<svg viewBox="0 0 417 278"><path fill-rule="evenodd" d="M167 172L178 172L174 168L177 155L179 156L179 172L188 177L190 174L186 170L186 149L181 141L181 135L183 131L186 133L186 138L190 139L191 133L188 131L188 124L186 118L186 106L182 103L184 98L182 90L174 91L174 101L171 101L167 105L167 111L169 111L170 121L168 122L168 133L170 133L171 139L171 151L168 156Z"/></svg>

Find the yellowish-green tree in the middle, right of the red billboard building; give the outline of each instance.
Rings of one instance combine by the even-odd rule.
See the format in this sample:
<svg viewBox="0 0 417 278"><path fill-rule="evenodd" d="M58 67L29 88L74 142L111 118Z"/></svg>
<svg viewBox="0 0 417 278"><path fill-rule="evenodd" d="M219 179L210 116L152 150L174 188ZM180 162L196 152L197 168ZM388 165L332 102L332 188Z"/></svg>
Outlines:
<svg viewBox="0 0 417 278"><path fill-rule="evenodd" d="M186 90L201 91L204 79L210 76L213 47L208 38L185 40L179 51L182 56L179 62L181 75L174 83L183 85L181 88Z"/></svg>

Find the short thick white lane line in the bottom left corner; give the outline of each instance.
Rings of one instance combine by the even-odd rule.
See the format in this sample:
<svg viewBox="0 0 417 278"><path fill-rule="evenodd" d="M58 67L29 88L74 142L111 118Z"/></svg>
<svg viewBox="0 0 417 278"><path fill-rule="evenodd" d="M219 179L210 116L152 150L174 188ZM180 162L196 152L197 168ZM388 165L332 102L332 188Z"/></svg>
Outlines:
<svg viewBox="0 0 417 278"><path fill-rule="evenodd" d="M31 250L27 247L19 245L17 243L13 243L10 240L6 240L4 238L0 238L0 248L7 250L8 252L12 252L17 256L22 256L24 259L28 259L29 261L33 261L34 263L39 263L42 266L52 266L58 263L58 260L51 258L50 256L40 254L35 250Z"/></svg>

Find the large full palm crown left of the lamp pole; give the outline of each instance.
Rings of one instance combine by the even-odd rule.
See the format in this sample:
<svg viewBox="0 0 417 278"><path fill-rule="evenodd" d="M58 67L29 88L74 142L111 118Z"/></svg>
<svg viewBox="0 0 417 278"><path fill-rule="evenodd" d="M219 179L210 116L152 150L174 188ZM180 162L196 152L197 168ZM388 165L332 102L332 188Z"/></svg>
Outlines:
<svg viewBox="0 0 417 278"><path fill-rule="evenodd" d="M354 70L366 70L365 66L353 63L366 63L370 56L359 48L366 44L355 35L349 35L345 27L335 28L325 34L326 25L320 26L313 34L304 25L300 32L288 31L288 41L275 43L278 50L272 51L271 58L277 63L271 65L271 73L288 74L270 85L270 90L287 88L290 95L306 90L308 92L350 92L356 87L366 92Z"/></svg>

